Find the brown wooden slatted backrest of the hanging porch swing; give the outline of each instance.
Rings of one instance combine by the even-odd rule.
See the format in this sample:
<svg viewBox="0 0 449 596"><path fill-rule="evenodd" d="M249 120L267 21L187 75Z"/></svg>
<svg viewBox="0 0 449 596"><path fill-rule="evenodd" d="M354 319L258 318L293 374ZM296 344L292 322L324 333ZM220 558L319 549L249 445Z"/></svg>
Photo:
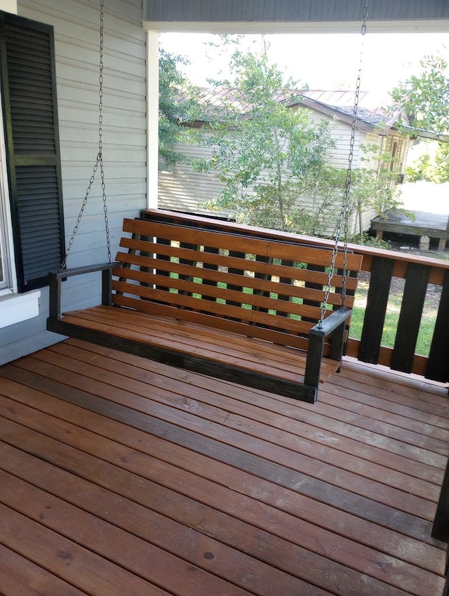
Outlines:
<svg viewBox="0 0 449 596"><path fill-rule="evenodd" d="M142 219L126 219L123 230L131 237L116 256L113 304L307 349L332 250ZM349 254L349 294L360 266ZM334 276L328 314L341 306L342 283ZM353 302L348 295L345 306Z"/></svg>

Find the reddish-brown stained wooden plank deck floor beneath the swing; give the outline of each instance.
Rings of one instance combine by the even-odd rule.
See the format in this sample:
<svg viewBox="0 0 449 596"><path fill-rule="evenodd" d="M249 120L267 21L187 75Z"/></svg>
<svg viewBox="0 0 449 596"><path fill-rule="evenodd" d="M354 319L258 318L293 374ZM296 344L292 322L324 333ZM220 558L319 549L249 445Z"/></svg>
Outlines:
<svg viewBox="0 0 449 596"><path fill-rule="evenodd" d="M443 388L319 403L68 340L0 368L1 596L439 596Z"/></svg>

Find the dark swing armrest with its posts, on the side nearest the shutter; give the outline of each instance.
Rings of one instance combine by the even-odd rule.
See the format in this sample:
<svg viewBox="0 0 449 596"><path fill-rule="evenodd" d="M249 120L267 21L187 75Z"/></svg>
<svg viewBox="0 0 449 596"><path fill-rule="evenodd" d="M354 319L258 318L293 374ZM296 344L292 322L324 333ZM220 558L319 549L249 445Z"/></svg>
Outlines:
<svg viewBox="0 0 449 596"><path fill-rule="evenodd" d="M72 269L62 269L62 271L51 271L48 273L50 284L50 306L48 318L59 320L61 318L61 290L62 280L68 277L84 275L85 273L102 272L102 304L111 304L112 295L112 269L118 266L118 263L102 263L99 265L86 265L83 267L74 267Z"/></svg>

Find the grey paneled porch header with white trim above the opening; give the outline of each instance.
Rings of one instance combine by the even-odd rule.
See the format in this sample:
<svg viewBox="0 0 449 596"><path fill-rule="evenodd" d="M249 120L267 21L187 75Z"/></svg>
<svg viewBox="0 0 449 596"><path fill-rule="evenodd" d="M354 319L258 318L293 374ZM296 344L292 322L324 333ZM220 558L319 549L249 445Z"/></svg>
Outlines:
<svg viewBox="0 0 449 596"><path fill-rule="evenodd" d="M362 0L152 0L144 8L149 29L204 32L358 31ZM370 32L449 31L449 5L441 0L369 1Z"/></svg>

